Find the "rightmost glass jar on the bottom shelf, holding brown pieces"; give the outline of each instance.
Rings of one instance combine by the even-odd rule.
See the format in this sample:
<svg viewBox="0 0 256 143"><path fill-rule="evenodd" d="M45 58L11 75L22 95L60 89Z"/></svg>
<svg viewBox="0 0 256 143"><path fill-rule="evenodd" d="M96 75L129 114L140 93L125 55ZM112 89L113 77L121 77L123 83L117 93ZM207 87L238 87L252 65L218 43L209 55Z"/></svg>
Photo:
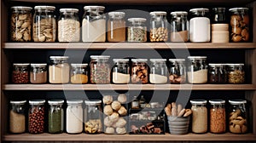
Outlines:
<svg viewBox="0 0 256 143"><path fill-rule="evenodd" d="M248 131L247 124L247 100L229 100L230 117L229 128L231 133L245 134Z"/></svg>

